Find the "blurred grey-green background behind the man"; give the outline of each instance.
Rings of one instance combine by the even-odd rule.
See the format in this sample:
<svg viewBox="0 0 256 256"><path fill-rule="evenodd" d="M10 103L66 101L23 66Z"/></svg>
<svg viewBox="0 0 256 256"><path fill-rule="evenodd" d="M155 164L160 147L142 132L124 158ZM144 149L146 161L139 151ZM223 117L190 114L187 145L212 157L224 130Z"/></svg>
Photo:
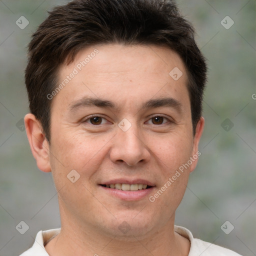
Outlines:
<svg viewBox="0 0 256 256"><path fill-rule="evenodd" d="M0 255L18 255L38 230L60 226L51 174L38 170L20 119L28 112L26 45L46 10L65 2L0 0ZM256 255L255 0L177 3L196 28L209 76L202 154L176 224L194 237ZM29 21L26 27L24 19L15 23L20 16ZM15 228L20 221L29 226L24 234ZM220 228L225 221L224 231L234 227L229 234Z"/></svg>

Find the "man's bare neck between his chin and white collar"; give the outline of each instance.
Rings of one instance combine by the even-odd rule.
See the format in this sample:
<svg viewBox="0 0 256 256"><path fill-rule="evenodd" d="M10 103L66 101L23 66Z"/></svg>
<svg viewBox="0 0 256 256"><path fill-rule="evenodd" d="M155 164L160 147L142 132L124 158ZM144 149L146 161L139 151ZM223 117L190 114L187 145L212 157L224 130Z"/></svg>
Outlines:
<svg viewBox="0 0 256 256"><path fill-rule="evenodd" d="M62 215L60 233L45 245L50 256L119 256L120 252L123 256L187 256L189 248L189 240L174 231L174 216L163 228L151 230L143 236L119 237Z"/></svg>

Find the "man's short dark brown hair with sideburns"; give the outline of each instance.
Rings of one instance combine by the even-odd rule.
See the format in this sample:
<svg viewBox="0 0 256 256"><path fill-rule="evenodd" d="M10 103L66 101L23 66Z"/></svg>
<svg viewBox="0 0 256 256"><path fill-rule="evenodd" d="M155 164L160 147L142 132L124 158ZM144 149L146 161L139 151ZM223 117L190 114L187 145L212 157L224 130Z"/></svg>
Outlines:
<svg viewBox="0 0 256 256"><path fill-rule="evenodd" d="M179 54L188 73L193 132L201 116L206 63L194 29L172 0L73 0L57 6L33 33L25 83L29 108L50 140L50 105L60 64L95 44L167 45Z"/></svg>

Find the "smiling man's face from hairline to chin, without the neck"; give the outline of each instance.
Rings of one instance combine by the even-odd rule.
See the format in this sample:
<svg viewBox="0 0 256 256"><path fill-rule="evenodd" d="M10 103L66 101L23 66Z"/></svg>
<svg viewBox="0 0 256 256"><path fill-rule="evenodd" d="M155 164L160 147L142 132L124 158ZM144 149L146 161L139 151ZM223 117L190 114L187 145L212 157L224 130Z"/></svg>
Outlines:
<svg viewBox="0 0 256 256"><path fill-rule="evenodd" d="M180 57L166 47L98 45L62 65L59 83L67 75L52 99L49 147L62 217L118 236L172 223L196 160L172 176L200 135Z"/></svg>

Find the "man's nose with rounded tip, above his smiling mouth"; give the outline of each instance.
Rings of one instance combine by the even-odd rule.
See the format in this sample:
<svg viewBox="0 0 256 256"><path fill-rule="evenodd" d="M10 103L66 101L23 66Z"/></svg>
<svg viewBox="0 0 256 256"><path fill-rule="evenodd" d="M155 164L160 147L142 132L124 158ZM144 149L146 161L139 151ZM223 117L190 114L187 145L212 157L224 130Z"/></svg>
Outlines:
<svg viewBox="0 0 256 256"><path fill-rule="evenodd" d="M129 166L149 160L149 149L136 125L126 131L117 127L109 157L114 163L125 162Z"/></svg>

